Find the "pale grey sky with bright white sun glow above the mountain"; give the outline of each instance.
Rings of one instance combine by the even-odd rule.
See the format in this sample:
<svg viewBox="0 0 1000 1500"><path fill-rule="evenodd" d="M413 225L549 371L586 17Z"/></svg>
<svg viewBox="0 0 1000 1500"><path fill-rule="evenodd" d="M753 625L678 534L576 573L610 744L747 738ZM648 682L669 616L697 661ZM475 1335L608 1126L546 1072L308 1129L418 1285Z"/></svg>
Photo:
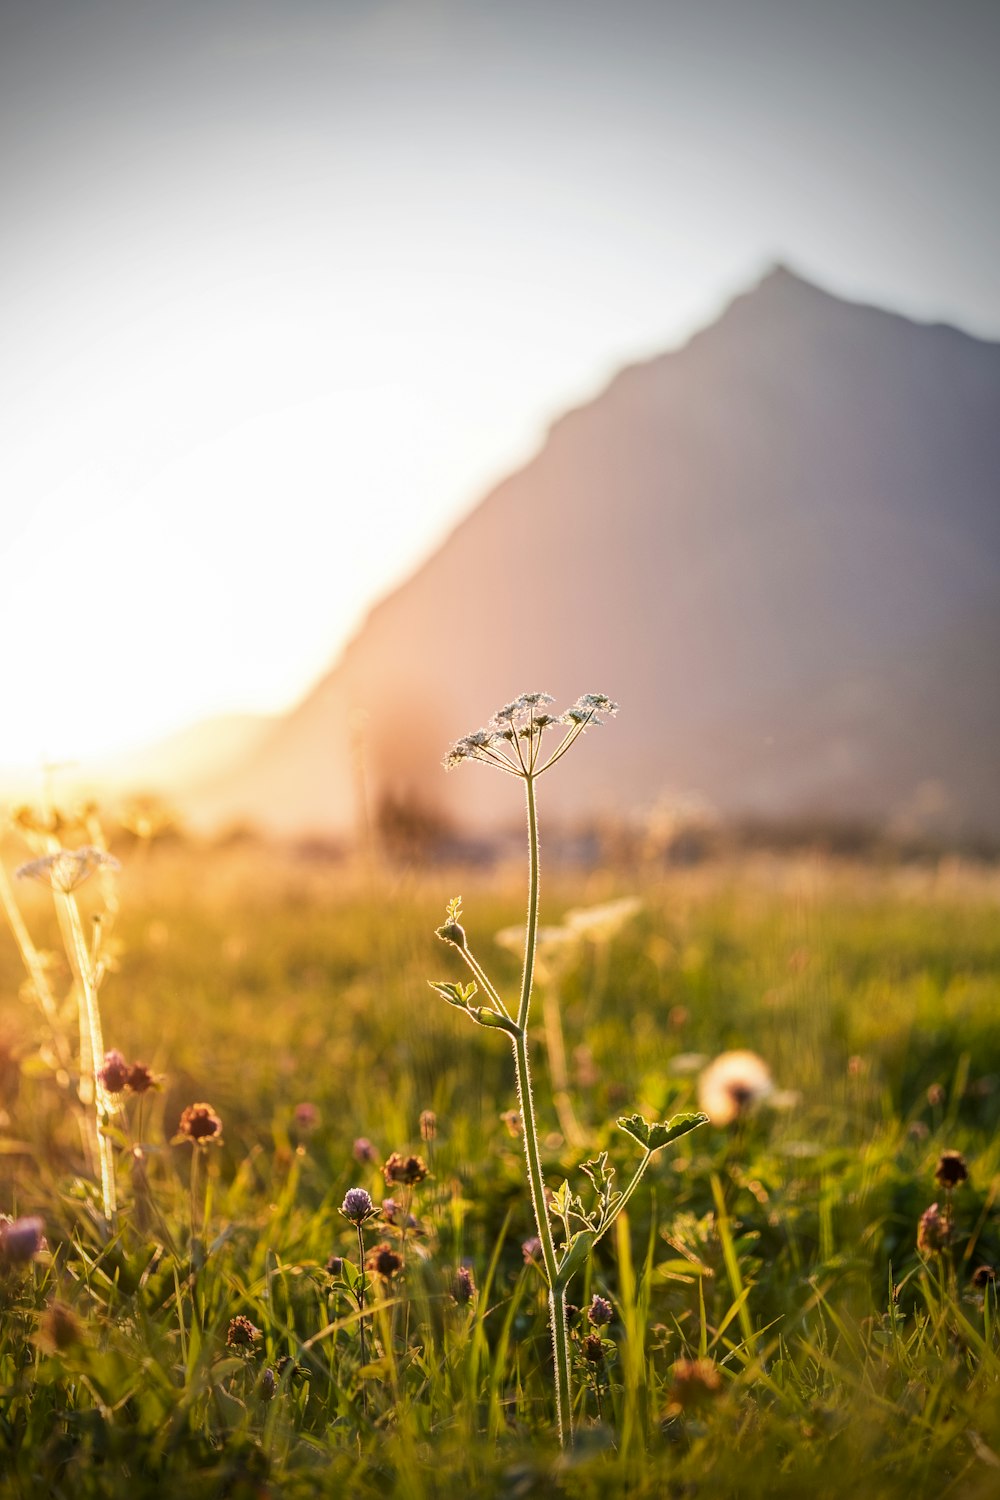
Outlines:
<svg viewBox="0 0 1000 1500"><path fill-rule="evenodd" d="M280 712L775 260L1000 339L994 0L0 0L0 765Z"/></svg>

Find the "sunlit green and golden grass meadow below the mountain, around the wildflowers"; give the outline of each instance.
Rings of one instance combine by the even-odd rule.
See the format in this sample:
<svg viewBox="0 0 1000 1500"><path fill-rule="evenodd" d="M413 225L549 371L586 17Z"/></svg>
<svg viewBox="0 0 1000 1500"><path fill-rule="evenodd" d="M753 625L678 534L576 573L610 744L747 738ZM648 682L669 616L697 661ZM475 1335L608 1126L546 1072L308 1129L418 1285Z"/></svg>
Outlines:
<svg viewBox="0 0 1000 1500"><path fill-rule="evenodd" d="M997 1492L996 868L591 870L543 846L547 1188L580 1192L601 1152L624 1182L615 1120L696 1110L720 1053L774 1080L660 1152L571 1282L561 1450L510 1047L427 987L459 978L435 928L460 892L516 992L495 934L523 924L523 870L114 850L78 892L85 922L105 912L103 1044L159 1086L115 1096L112 1226L0 927L0 1208L45 1236L0 1269L0 1494ZM7 873L30 854L12 832ZM75 1047L51 892L12 890ZM546 950L570 910L589 916ZM198 1102L220 1143L178 1138ZM363 1282L352 1188L390 1200L361 1227Z"/></svg>

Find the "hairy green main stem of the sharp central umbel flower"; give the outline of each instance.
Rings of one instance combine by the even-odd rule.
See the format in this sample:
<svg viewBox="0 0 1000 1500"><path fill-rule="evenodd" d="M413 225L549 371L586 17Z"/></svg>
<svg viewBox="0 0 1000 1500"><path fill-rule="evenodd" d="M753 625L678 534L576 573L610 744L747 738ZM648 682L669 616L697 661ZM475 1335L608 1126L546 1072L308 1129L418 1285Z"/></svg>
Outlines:
<svg viewBox="0 0 1000 1500"><path fill-rule="evenodd" d="M520 1119L523 1126L531 1206L535 1214L535 1228L538 1230L538 1240L541 1244L541 1262L546 1272L546 1281L549 1282L549 1320L552 1332L552 1359L559 1442L564 1448L570 1448L573 1444L573 1394L570 1389L570 1341L565 1322L565 1287L559 1282L556 1251L552 1240L552 1226L549 1222L549 1209L546 1204L546 1184L541 1174L535 1101L531 1090L531 1062L528 1059L528 1012L531 1008L531 986L535 966L540 891L538 810L535 806L534 778L531 776L525 777L525 792L528 802L529 846L528 930L525 938L525 970L522 976L520 1005L517 1008L517 1029L513 1035L514 1074L517 1078L517 1101L520 1104Z"/></svg>

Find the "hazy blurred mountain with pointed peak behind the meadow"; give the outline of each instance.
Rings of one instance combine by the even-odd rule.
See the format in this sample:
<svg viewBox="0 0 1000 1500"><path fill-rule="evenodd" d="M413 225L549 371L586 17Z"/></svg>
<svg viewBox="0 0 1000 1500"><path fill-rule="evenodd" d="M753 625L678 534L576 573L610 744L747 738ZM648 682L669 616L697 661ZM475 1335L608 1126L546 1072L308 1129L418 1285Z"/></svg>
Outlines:
<svg viewBox="0 0 1000 1500"><path fill-rule="evenodd" d="M519 692L622 704L549 816L700 792L724 814L1000 834L1000 345L778 267L555 423L192 808L462 828L519 789L448 742Z"/></svg>

